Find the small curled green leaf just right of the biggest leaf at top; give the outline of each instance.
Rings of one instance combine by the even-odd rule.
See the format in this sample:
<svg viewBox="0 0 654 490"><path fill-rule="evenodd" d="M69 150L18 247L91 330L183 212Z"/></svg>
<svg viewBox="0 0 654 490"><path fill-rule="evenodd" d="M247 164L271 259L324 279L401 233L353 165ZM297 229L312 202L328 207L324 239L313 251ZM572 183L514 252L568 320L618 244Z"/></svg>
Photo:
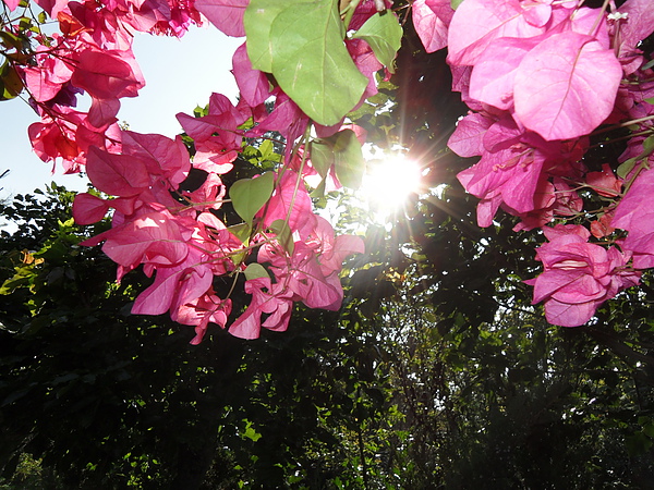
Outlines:
<svg viewBox="0 0 654 490"><path fill-rule="evenodd" d="M395 73L392 62L402 42L402 26L390 11L377 12L370 17L354 37L371 45L377 60Z"/></svg>

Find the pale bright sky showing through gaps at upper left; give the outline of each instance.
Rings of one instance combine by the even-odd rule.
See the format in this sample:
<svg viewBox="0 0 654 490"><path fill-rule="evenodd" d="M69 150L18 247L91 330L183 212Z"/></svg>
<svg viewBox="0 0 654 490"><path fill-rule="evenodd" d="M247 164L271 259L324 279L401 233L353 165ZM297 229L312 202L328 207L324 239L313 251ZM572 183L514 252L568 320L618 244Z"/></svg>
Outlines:
<svg viewBox="0 0 654 490"><path fill-rule="evenodd" d="M134 53L146 86L138 97L121 100L119 120L126 121L132 131L172 137L181 132L175 114L205 106L211 93L235 101L237 84L229 71L232 53L242 42L243 38L227 37L208 24L191 28L181 40L138 35ZM52 174L50 164L34 155L27 127L38 117L24 101L0 102L0 173L10 170L0 180L0 199L43 188L52 180L70 189L86 188L78 175L62 175L61 169Z"/></svg>

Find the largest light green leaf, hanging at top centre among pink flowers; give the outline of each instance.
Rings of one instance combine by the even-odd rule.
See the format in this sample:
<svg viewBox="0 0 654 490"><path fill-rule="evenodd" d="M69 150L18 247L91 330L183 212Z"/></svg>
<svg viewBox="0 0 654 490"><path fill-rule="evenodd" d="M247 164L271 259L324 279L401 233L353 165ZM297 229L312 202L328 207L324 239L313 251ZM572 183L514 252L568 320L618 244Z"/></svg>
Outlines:
<svg viewBox="0 0 654 490"><path fill-rule="evenodd" d="M359 102L367 78L348 53L337 2L253 0L244 22L252 65L314 121L336 124Z"/></svg>

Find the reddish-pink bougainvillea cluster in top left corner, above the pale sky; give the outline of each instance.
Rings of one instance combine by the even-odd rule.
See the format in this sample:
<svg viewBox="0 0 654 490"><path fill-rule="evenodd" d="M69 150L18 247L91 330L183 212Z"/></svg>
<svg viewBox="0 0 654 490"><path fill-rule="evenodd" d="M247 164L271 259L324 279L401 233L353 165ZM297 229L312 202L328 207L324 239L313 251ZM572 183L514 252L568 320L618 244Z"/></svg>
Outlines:
<svg viewBox="0 0 654 490"><path fill-rule="evenodd" d="M134 32L182 36L201 22L193 2L38 0L60 34L35 37L37 54L20 68L41 121L29 138L44 161L60 161L65 173L82 170L90 148L120 149L120 99L136 97L145 81L132 52ZM88 111L74 108L86 93Z"/></svg>

